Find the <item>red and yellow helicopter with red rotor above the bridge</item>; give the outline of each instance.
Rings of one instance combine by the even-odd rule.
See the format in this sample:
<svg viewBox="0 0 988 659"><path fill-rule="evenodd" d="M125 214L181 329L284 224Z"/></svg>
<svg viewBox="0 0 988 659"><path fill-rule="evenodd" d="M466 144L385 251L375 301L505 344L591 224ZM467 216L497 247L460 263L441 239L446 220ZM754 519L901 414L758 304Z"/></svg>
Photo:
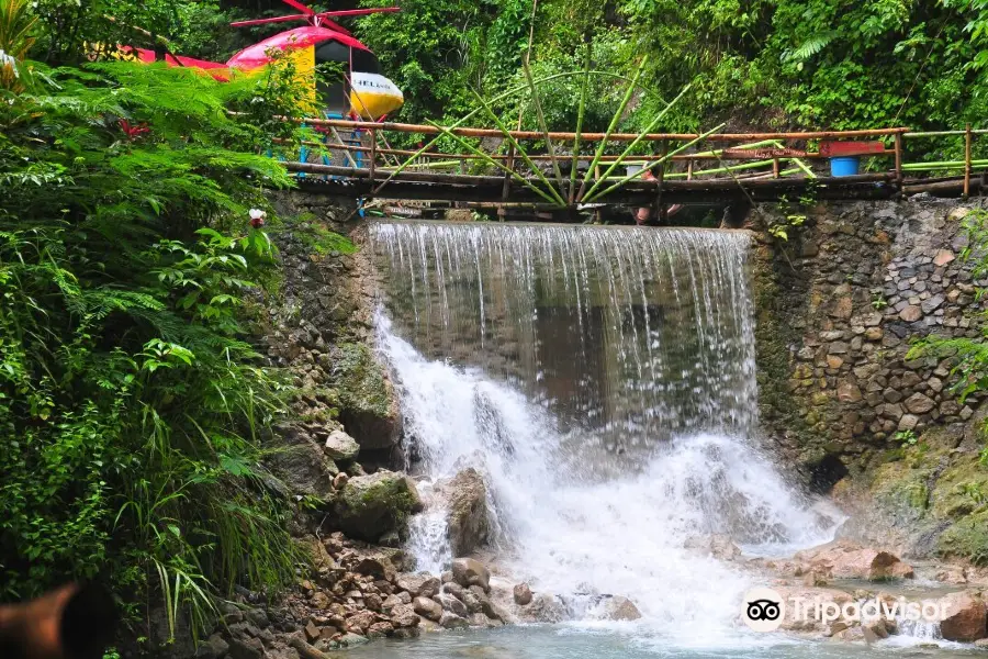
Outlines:
<svg viewBox="0 0 988 659"><path fill-rule="evenodd" d="M260 70L272 64L272 52L281 51L290 57L299 78L311 81L313 98L325 116L352 116L367 121L381 121L388 114L398 110L405 102L397 86L381 75L381 68L374 54L358 41L348 30L333 19L360 16L374 13L393 13L401 11L398 7L378 9L350 9L341 11L316 12L297 0L282 0L301 13L271 19L256 19L231 23L234 27L248 27L268 23L290 23L302 21L307 23L280 32L270 38L248 46L229 58L226 64L205 62L191 57L165 54L164 60L170 66L199 68L209 71L218 79L228 77L231 69L250 72ZM156 62L161 54L145 48L127 48L142 62ZM316 82L315 67L324 63L341 63L346 75L337 83ZM303 82L305 83L305 82Z"/></svg>

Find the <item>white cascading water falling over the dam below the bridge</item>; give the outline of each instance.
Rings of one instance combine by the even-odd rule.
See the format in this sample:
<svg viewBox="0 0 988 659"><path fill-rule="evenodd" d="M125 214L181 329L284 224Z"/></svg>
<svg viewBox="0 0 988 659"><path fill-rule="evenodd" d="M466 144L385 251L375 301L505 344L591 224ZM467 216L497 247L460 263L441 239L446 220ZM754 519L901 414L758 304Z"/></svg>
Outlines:
<svg viewBox="0 0 988 659"><path fill-rule="evenodd" d="M748 234L379 223L371 237L424 489L482 470L498 563L574 617L613 593L658 632L709 636L750 583L691 537L766 552L832 537L750 440ZM413 523L420 568L450 558L442 520Z"/></svg>

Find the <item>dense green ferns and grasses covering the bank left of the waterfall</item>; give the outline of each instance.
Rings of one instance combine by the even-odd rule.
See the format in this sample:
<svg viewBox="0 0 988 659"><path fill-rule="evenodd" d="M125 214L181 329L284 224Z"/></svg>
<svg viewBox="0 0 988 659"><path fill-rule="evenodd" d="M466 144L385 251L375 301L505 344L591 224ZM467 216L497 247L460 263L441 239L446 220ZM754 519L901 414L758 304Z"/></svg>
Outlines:
<svg viewBox="0 0 988 659"><path fill-rule="evenodd" d="M291 185L249 108L301 111L278 74L23 65L0 92L0 599L99 579L132 622L161 602L201 627L295 569L261 462L293 390L246 326L274 265L248 210Z"/></svg>

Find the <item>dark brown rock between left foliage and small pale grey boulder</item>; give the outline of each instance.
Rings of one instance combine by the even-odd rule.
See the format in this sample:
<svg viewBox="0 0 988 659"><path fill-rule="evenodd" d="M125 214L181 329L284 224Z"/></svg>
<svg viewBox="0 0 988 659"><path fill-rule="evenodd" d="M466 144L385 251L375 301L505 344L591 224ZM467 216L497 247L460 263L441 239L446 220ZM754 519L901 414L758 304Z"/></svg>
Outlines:
<svg viewBox="0 0 988 659"><path fill-rule="evenodd" d="M326 499L333 491L333 478L339 468L304 429L280 428L283 447L267 458L271 472L293 494Z"/></svg>

